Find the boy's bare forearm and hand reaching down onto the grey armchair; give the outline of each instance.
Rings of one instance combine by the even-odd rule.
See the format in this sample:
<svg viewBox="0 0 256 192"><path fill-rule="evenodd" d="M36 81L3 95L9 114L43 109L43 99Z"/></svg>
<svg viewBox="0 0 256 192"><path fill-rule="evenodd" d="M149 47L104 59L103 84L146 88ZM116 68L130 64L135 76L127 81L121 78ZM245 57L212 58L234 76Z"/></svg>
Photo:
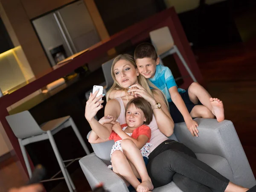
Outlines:
<svg viewBox="0 0 256 192"><path fill-rule="evenodd" d="M187 110L186 105L183 99L181 98L180 93L177 90L177 87L176 86L170 87L169 93L171 95L172 102L176 105L176 107L182 114L185 120L186 126L189 129L190 133L192 134L192 136L198 137L198 132L199 132L197 129L198 123L195 122L190 116L189 111Z"/></svg>

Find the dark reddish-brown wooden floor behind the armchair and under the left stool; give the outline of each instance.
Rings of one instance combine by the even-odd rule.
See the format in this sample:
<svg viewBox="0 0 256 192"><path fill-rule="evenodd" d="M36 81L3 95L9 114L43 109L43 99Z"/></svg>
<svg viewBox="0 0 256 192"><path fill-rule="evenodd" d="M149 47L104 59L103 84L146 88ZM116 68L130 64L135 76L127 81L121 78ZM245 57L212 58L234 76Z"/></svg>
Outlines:
<svg viewBox="0 0 256 192"><path fill-rule="evenodd" d="M207 90L224 102L225 119L235 125L239 139L256 176L256 40L246 44L196 50L198 64ZM81 169L71 177L77 192L90 191ZM6 160L0 163L0 192L26 181L19 173L17 163ZM60 183L51 192L66 192Z"/></svg>

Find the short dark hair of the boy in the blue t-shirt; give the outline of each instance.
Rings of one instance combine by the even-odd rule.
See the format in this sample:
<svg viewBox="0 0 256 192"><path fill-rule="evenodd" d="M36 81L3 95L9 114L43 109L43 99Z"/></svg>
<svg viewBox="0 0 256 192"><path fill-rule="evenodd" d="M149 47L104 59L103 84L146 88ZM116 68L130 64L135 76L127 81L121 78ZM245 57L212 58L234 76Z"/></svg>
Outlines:
<svg viewBox="0 0 256 192"><path fill-rule="evenodd" d="M142 43L139 44L134 50L134 60L138 58L151 58L157 61L157 52L152 44Z"/></svg>

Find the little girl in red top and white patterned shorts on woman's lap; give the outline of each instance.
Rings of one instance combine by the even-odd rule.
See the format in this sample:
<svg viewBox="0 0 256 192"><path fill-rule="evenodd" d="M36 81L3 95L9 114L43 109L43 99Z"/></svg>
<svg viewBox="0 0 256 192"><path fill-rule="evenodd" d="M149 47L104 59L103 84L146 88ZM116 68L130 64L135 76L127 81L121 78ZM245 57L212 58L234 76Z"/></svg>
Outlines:
<svg viewBox="0 0 256 192"><path fill-rule="evenodd" d="M112 161L112 165L109 167L124 177L137 192L148 192L154 188L146 169L151 147L149 143L151 129L147 125L152 121L152 118L151 105L143 98L134 98L128 102L125 109L126 124L120 125L119 122L115 122L113 116L108 115L99 120L101 124L113 124L108 139L99 138L93 131L89 136L90 143L115 141L111 149L111 159L114 155L118 156L119 153L124 153L127 161L121 167L115 166L119 162ZM141 178L142 182L140 183L137 178ZM131 188L128 187L128 189Z"/></svg>

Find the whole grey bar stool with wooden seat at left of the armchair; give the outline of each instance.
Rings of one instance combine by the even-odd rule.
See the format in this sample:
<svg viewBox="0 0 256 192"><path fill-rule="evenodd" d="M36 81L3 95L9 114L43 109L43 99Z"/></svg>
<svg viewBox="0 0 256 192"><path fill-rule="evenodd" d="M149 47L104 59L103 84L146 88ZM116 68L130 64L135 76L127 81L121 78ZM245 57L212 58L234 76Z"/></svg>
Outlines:
<svg viewBox="0 0 256 192"><path fill-rule="evenodd" d="M81 134L79 133L72 117L61 117L58 119L45 122L39 126L35 119L32 117L32 115L29 113L29 111L23 111L21 113L6 116L6 120L12 128L12 131L14 132L15 136L18 138L20 149L26 164L27 171L29 173L29 177L32 176L32 171L26 154L25 145L48 139L52 145L52 149L58 160L58 164L61 168L62 174L64 175L64 179L67 183L68 189L70 192L73 192L73 190L75 190L76 187L73 181L71 180L71 177L67 171L67 166L65 166L64 162L71 161L71 163L73 163L75 160L79 160L80 158L63 161L56 146L55 140L53 138L53 135L58 133L58 131L61 131L61 129L71 126L76 134L76 137L79 139L82 147L84 148L85 153L90 154L90 151L85 145L84 140L81 137ZM55 177L57 174L55 174L53 177ZM53 177L51 177L51 179L49 180L56 180L56 178L54 179ZM61 178L63 179L63 177Z"/></svg>

